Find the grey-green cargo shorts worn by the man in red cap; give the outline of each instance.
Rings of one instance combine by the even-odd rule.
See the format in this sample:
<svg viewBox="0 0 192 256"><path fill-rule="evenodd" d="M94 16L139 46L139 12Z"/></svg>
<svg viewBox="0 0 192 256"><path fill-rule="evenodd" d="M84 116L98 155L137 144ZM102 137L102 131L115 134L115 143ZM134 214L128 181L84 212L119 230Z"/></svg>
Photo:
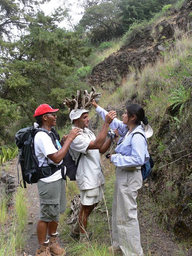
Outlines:
<svg viewBox="0 0 192 256"><path fill-rule="evenodd" d="M39 219L43 221L59 221L60 213L66 210L65 181L61 178L50 183L37 182L40 200Z"/></svg>

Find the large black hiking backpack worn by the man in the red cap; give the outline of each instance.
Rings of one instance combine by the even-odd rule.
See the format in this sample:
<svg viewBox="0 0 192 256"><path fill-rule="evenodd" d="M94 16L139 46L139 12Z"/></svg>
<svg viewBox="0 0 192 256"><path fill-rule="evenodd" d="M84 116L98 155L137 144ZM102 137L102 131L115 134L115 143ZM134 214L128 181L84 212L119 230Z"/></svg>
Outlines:
<svg viewBox="0 0 192 256"><path fill-rule="evenodd" d="M48 166L43 167L43 164L47 158L45 158L43 164L39 167L39 162L35 155L34 149L34 137L37 132L45 132L52 139L53 145L58 149L56 137L53 132L48 132L43 128L34 128L34 126L26 127L19 130L15 134L15 143L19 148L19 160L18 164L21 165L23 186L26 188L26 182L28 184L37 183L41 178L49 177L59 169L61 165L56 166L54 164L48 164ZM47 160L48 162L48 160ZM19 184L19 169L17 164L18 172L18 184ZM21 185L21 182L20 182ZM22 185L21 185L22 187Z"/></svg>

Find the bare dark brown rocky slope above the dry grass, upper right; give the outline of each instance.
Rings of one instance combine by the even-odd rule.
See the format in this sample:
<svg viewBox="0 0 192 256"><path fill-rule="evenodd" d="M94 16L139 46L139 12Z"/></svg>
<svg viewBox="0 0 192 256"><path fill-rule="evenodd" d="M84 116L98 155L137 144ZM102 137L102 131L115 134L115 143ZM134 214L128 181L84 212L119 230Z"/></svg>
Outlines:
<svg viewBox="0 0 192 256"><path fill-rule="evenodd" d="M192 1L184 3L179 11L171 8L170 12L171 16L158 24L152 23L134 30L119 51L93 68L89 83L102 86L109 81L116 81L117 74L125 77L129 74L129 66L142 69L146 63L154 63L160 52L166 49L165 40L171 42L178 36L175 35L175 29L187 31L191 24Z"/></svg>

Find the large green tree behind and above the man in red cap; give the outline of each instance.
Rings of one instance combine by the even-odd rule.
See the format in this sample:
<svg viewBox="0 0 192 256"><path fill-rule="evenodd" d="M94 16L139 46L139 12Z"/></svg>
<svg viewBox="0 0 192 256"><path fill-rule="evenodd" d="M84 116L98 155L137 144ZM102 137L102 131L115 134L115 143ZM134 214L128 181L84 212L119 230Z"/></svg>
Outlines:
<svg viewBox="0 0 192 256"><path fill-rule="evenodd" d="M54 89L63 89L64 98L65 90L69 89L65 78L76 62L86 65L85 59L91 52L76 33L53 26L52 19L43 13L31 17L26 30L27 34L18 41L0 42L0 111L5 111L7 117L1 116L0 131L7 129L19 114L27 115L33 122L36 107L53 102ZM70 93L73 92L71 88ZM58 103L62 101L54 102ZM3 138L3 134L0 136Z"/></svg>

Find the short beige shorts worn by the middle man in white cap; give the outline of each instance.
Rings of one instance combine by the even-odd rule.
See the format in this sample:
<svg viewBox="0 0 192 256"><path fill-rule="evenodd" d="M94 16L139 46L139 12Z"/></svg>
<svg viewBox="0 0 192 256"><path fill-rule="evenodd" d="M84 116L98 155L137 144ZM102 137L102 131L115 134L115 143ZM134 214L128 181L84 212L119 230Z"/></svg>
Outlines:
<svg viewBox="0 0 192 256"><path fill-rule="evenodd" d="M83 205L93 205L102 200L104 193L104 184L94 189L80 190L81 203Z"/></svg>

